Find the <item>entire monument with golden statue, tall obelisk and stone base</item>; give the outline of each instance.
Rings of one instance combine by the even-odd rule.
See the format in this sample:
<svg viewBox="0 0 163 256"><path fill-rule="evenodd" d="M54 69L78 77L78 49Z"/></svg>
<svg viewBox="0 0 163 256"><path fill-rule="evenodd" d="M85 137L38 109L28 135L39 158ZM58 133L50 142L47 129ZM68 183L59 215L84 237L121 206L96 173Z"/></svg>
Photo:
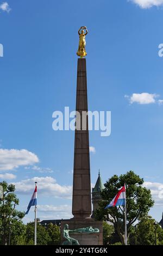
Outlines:
<svg viewBox="0 0 163 256"><path fill-rule="evenodd" d="M81 33L80 30L82 29ZM85 31L86 33L85 33ZM87 81L86 81L86 56L85 35L86 27L81 27L79 34L79 48L77 55L77 97L76 97L76 131L74 142L74 167L73 167L73 196L72 214L70 220L61 221L61 243L70 244L66 241L64 232L71 231L72 239L78 241L79 245L103 245L103 223L95 221L91 215L91 180L90 180L90 150L88 117L85 113L87 107ZM96 233L77 233L75 230L93 227L99 231ZM66 230L66 231L65 231Z"/></svg>

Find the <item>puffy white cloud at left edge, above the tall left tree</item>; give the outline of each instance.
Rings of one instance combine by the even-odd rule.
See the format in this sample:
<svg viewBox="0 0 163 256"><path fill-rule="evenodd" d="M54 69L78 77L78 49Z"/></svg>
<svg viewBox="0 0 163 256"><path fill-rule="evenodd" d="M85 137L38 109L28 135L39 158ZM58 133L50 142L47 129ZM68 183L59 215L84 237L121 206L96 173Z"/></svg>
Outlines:
<svg viewBox="0 0 163 256"><path fill-rule="evenodd" d="M12 170L37 162L38 157L26 149L0 149L0 170Z"/></svg>

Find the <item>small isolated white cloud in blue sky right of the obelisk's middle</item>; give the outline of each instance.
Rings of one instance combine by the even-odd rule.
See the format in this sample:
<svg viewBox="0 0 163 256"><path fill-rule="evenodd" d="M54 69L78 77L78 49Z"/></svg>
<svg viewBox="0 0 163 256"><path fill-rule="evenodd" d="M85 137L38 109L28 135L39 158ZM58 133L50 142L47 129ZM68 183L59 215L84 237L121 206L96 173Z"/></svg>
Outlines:
<svg viewBox="0 0 163 256"><path fill-rule="evenodd" d="M157 94L150 94L150 93L133 93L131 96L125 95L124 97L127 97L131 104L134 102L138 104L151 104L155 103L155 98L158 97Z"/></svg>

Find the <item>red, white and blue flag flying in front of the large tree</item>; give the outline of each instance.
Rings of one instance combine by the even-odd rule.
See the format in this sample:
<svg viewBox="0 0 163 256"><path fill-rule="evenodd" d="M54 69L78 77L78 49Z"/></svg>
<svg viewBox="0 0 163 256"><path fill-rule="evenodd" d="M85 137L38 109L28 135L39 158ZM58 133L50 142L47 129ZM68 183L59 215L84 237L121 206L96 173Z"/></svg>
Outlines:
<svg viewBox="0 0 163 256"><path fill-rule="evenodd" d="M118 205L125 205L126 200L126 188L123 186L121 190L118 191L116 196L111 200L110 204L108 204L105 209L110 207L118 206Z"/></svg>

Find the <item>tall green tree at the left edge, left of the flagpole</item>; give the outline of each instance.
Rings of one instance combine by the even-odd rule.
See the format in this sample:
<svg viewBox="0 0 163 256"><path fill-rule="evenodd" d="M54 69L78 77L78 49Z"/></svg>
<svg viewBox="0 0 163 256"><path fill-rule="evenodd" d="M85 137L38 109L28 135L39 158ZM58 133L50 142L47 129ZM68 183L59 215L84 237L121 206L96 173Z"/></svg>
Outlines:
<svg viewBox="0 0 163 256"><path fill-rule="evenodd" d="M24 231L22 218L25 213L16 210L19 200L15 194L15 186L3 181L0 183L3 187L3 198L0 199L0 243L7 245L9 243L9 230L11 229L11 242L16 243L16 239Z"/></svg>

